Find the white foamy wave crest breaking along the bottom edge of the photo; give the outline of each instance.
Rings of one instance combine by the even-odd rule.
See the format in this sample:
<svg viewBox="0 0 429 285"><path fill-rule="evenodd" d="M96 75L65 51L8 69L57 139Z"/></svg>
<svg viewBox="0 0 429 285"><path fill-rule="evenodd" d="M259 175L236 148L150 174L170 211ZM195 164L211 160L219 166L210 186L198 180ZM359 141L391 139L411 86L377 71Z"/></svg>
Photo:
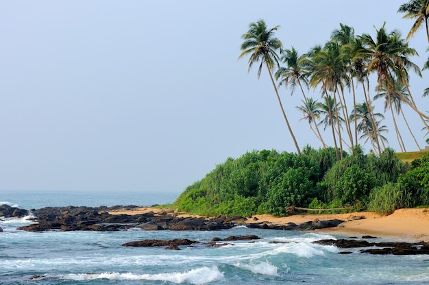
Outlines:
<svg viewBox="0 0 429 285"><path fill-rule="evenodd" d="M207 284L216 280L223 279L223 273L217 267L201 267L192 269L183 273L158 273L158 274L135 274L135 273L101 273L101 274L68 274L62 276L66 280L151 280L151 281L167 281L173 283L188 282L191 284Z"/></svg>

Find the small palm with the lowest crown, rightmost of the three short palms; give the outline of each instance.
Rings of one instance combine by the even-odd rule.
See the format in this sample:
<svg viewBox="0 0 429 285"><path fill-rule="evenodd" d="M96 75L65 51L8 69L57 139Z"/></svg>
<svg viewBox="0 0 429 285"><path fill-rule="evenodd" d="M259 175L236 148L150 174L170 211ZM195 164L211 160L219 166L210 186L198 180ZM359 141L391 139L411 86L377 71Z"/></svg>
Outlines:
<svg viewBox="0 0 429 285"><path fill-rule="evenodd" d="M378 130L378 123L380 123L380 121L376 121L376 129L373 128L373 123L371 122L371 116L373 116L373 119L376 119L377 117L379 117L380 119L384 119L384 116L380 113L373 113L371 112L373 110L373 107L371 107L371 109L368 108L368 105L366 102L360 103L360 104L356 104L356 113L352 112L352 114L350 114L350 120L354 120L356 119L357 121L359 121L358 123L358 132L362 133L362 135L360 136L360 138L365 138L367 137L367 140L365 140L365 143L367 143L368 138L371 138L370 143L371 146L373 147L373 151L376 153L380 153L380 147L378 147L377 141L378 141L378 137L381 138L382 141L382 145L384 146L384 141L386 141L386 138L382 137L380 135L380 130ZM383 131L385 131L385 126Z"/></svg>

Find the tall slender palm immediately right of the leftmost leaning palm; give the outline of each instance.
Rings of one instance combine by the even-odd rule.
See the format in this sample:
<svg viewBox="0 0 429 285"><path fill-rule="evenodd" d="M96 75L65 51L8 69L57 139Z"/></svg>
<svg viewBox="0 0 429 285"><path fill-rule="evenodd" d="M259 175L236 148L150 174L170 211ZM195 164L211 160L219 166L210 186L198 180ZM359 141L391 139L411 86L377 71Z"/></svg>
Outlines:
<svg viewBox="0 0 429 285"><path fill-rule="evenodd" d="M304 103L305 103L305 109L308 113L308 116L312 117L312 120L317 117L317 114L311 114L312 110L315 110L315 103L314 101L309 101L310 99L307 99L306 93L304 92L304 88L302 87L303 82L306 86L308 86L308 80L307 80L307 74L305 73L303 66L300 64L301 56L299 56L298 51L292 47L292 49L285 49L283 52L283 55L281 56L281 60L284 64L286 64L286 67L280 67L278 71L275 72L275 79L280 78L279 88L281 85L284 85L286 89L288 86L291 88L291 95L293 95L293 92L295 91L295 88L299 86L299 89L302 92L302 97L304 97ZM314 105L314 106L312 106ZM310 121L309 121L310 123ZM312 124L310 123L310 128L312 129ZM319 127L317 127L317 124L315 123L316 128L316 137L321 140L321 143L323 147L326 147L326 144L323 142L323 139L321 137L321 134L319 132ZM313 132L314 129L312 129Z"/></svg>

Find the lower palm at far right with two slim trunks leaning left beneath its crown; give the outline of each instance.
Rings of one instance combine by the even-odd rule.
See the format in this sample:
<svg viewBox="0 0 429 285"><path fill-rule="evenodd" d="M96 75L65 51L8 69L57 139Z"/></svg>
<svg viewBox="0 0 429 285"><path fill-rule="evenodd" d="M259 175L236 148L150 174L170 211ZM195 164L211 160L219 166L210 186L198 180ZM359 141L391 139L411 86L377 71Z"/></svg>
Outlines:
<svg viewBox="0 0 429 285"><path fill-rule="evenodd" d="M379 92L374 99L380 99L384 98L384 112L386 110L391 110L393 125L395 126L395 132L397 136L398 143L400 144L401 150L406 151L404 140L402 140L402 136L400 134L400 131L396 124L395 114L393 113L393 108L395 108L395 111L397 114L402 114L402 118L404 119L404 122L406 123L406 126L408 127L408 131L410 132L411 136L413 136L414 142L417 145L417 149L420 149L419 144L417 143L417 140L413 134L413 132L410 129L410 126L408 125L408 121L406 120L406 117L404 115L404 112L402 111L402 97L398 95L397 93L400 92L402 94L402 97L408 99L409 95L406 92L406 88L404 85L400 84L399 82L395 81L395 89L390 88L389 85L384 82L382 84L382 90Z"/></svg>

